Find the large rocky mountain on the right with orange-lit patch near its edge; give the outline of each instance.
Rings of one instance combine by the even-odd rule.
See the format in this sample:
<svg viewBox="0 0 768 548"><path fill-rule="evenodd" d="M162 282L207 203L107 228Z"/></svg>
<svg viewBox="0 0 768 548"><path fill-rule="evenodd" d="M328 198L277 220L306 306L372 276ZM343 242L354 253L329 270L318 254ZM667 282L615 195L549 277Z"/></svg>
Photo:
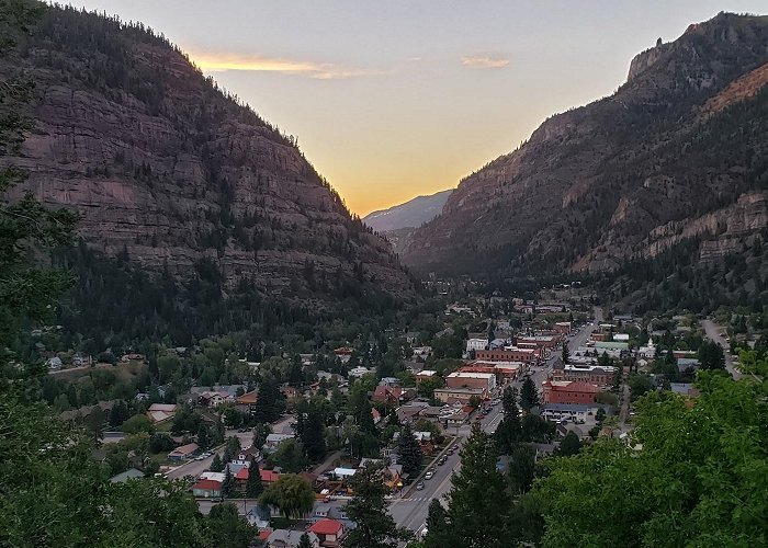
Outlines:
<svg viewBox="0 0 768 548"><path fill-rule="evenodd" d="M546 119L462 180L404 262L600 276L679 246L694 264L754 248L768 224L767 62L766 16L690 25L635 57L615 93Z"/></svg>

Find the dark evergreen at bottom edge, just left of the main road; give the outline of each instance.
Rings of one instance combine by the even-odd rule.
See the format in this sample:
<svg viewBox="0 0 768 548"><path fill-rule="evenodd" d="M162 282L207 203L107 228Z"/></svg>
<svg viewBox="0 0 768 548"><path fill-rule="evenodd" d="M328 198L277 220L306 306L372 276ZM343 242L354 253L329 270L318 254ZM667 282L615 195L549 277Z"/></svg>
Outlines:
<svg viewBox="0 0 768 548"><path fill-rule="evenodd" d="M345 540L346 548L395 548L413 534L395 525L387 513L386 488L382 483L381 465L366 465L352 477L354 496L347 503L347 515L357 527Z"/></svg>

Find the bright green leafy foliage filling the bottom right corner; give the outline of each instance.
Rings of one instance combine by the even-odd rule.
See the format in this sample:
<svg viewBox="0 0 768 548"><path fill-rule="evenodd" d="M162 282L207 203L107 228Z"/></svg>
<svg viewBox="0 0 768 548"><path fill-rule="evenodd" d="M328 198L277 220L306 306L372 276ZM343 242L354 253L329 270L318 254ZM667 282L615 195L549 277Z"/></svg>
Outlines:
<svg viewBox="0 0 768 548"><path fill-rule="evenodd" d="M671 392L637 403L634 450L600 438L547 463L533 492L542 546L758 546L768 530L766 388L716 373L689 408Z"/></svg>

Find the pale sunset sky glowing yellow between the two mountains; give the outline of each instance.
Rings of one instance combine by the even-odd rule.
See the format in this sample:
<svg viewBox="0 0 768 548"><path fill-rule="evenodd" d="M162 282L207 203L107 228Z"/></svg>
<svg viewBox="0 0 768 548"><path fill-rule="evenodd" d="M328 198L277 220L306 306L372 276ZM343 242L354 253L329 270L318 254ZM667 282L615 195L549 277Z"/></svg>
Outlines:
<svg viewBox="0 0 768 548"><path fill-rule="evenodd" d="M79 0L142 21L281 132L360 216L459 181L632 57L765 0Z"/></svg>

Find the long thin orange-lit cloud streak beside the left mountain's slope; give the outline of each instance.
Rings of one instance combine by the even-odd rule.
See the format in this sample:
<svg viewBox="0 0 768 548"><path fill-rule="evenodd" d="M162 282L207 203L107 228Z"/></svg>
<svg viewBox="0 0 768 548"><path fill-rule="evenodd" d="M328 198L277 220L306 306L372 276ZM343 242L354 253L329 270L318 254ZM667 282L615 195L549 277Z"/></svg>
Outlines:
<svg viewBox="0 0 768 548"><path fill-rule="evenodd" d="M261 55L199 54L190 55L195 65L206 72L245 70L253 72L281 72L316 80L340 80L357 76L381 73L371 70L350 69L334 62L314 62L298 59L264 57Z"/></svg>

